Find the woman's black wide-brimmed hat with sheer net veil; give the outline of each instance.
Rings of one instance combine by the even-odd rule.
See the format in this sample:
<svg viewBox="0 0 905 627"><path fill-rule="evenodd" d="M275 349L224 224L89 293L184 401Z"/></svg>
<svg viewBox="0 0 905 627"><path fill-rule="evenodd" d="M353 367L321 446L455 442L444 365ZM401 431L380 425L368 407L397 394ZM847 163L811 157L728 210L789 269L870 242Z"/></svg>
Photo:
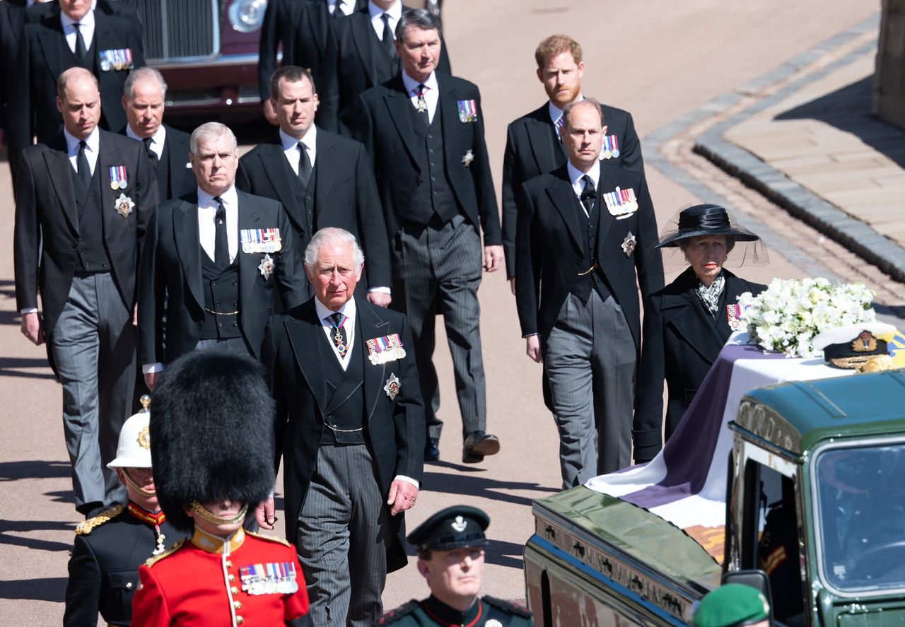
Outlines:
<svg viewBox="0 0 905 627"><path fill-rule="evenodd" d="M683 244L692 237L721 235L726 238L730 252L725 265L760 266L769 262L767 248L757 233L738 224L719 204L694 204L681 209L666 223L660 233L660 241L654 248L661 249L664 265L685 265ZM745 246L738 246L745 242Z"/></svg>

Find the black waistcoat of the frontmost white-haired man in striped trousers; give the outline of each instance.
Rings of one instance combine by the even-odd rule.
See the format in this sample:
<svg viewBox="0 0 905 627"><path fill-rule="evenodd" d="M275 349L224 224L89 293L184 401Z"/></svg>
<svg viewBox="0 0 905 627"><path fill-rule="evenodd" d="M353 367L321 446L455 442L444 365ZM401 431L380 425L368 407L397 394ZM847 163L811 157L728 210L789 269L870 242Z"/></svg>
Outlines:
<svg viewBox="0 0 905 627"><path fill-rule="evenodd" d="M365 343L361 327L356 326L355 345L348 368L342 369L327 334L320 333L329 399L324 405L324 430L321 444L364 444L365 430ZM329 425L329 426L327 426ZM329 427L333 427L330 429ZM341 431L334 431L341 430ZM360 430L360 431L353 431Z"/></svg>

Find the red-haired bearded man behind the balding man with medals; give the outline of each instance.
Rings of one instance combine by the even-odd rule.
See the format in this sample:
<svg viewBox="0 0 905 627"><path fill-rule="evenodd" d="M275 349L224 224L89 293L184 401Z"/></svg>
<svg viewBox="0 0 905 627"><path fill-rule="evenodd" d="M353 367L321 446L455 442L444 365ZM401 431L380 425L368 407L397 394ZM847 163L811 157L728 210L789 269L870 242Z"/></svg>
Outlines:
<svg viewBox="0 0 905 627"><path fill-rule="evenodd" d="M559 138L562 109L584 98L581 79L585 73L581 46L566 35L551 35L534 52L538 62L538 80L543 83L548 101L538 109L510 123L506 131L503 156L503 247L506 251L506 275L515 290L516 223L521 185L535 176L565 166L566 147ZM605 135L610 144L601 158L644 174L641 142L634 131L632 114L623 109L601 105L606 119Z"/></svg>

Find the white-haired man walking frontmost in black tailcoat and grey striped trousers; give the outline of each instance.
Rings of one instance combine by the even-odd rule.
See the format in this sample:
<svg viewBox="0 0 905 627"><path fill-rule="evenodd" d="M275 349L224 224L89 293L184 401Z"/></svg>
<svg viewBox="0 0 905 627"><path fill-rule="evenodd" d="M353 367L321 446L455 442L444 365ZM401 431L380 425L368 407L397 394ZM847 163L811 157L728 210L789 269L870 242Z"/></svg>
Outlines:
<svg viewBox="0 0 905 627"><path fill-rule="evenodd" d="M363 262L348 231L315 233L305 251L314 298L273 316L262 347L277 404L286 534L316 625L376 622L386 573L407 562L403 512L424 469L408 322L355 298ZM273 528L272 514L271 499L258 524Z"/></svg>

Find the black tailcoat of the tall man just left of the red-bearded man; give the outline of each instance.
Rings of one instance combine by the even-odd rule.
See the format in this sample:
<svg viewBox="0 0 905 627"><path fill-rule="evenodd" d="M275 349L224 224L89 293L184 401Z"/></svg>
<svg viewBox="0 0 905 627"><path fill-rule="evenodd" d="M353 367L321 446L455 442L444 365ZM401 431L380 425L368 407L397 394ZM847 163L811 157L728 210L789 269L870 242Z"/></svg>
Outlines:
<svg viewBox="0 0 905 627"><path fill-rule="evenodd" d="M440 72L436 77L440 91L436 114L441 116L446 176L456 204L475 230L483 231L485 246L500 244L500 214L484 144L481 93L472 82ZM475 101L477 120L460 121L456 105L459 100ZM356 138L365 145L374 163L390 238L405 222L414 188L428 185L428 174L418 165L420 147L413 127L417 120L411 109L414 107L405 93L401 74L367 90L359 99ZM472 161L466 165L463 157L468 153Z"/></svg>

